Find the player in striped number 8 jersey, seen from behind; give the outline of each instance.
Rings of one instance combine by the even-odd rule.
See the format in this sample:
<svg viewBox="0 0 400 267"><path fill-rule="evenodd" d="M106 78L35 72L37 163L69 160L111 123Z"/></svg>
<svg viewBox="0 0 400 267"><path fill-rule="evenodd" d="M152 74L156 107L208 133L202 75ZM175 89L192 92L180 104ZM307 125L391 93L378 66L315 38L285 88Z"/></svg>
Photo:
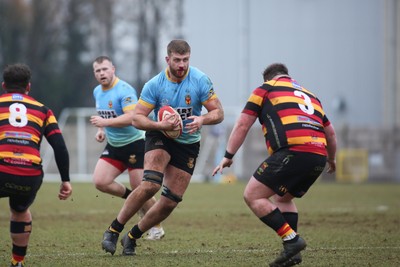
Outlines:
<svg viewBox="0 0 400 267"><path fill-rule="evenodd" d="M7 65L3 71L0 96L0 198L8 197L11 210L10 266L24 266L32 215L29 207L43 181L40 144L43 136L54 150L61 175L58 198L72 193L69 178L69 155L53 112L28 96L31 70L25 64Z"/></svg>

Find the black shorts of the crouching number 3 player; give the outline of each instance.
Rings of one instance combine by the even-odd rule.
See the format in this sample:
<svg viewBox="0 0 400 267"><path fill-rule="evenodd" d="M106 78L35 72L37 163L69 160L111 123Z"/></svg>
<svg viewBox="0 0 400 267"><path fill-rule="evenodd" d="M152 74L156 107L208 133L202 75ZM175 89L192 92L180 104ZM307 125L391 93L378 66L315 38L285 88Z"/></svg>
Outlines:
<svg viewBox="0 0 400 267"><path fill-rule="evenodd" d="M264 160L253 176L283 196L302 197L321 175L326 165L323 155L278 150Z"/></svg>

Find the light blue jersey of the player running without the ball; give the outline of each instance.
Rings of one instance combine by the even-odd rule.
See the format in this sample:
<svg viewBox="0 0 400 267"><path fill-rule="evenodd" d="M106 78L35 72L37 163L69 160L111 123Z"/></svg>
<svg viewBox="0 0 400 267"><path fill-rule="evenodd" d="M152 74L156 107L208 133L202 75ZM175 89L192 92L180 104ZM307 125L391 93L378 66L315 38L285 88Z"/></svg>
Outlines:
<svg viewBox="0 0 400 267"><path fill-rule="evenodd" d="M115 79L110 88L96 86L93 90L96 110L102 118L116 118L124 111L132 110L138 100L136 90L127 82ZM144 131L133 126L105 127L107 142L114 147L121 147L136 140L143 139Z"/></svg>

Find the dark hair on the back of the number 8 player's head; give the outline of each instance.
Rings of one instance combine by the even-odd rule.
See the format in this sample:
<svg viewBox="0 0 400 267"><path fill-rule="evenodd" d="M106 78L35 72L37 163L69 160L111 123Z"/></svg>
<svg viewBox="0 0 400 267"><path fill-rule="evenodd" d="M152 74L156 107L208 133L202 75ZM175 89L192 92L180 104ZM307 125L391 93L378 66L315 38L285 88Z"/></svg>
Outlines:
<svg viewBox="0 0 400 267"><path fill-rule="evenodd" d="M16 63L6 65L3 70L4 87L7 92L25 93L31 81L31 69L28 65Z"/></svg>

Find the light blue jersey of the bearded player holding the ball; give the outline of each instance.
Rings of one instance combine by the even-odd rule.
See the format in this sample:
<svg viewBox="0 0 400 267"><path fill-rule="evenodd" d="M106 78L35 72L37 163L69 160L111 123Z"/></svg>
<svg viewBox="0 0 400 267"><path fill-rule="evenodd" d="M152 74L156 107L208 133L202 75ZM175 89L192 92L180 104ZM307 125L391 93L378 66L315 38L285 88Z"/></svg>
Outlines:
<svg viewBox="0 0 400 267"><path fill-rule="evenodd" d="M167 69L148 81L142 90L139 103L154 108L153 120L157 121L160 107L169 105L176 109L183 121L183 133L175 139L179 143L193 144L200 141L200 131L188 134L185 125L190 122L187 118L200 116L203 103L216 98L211 80L199 69L190 66L182 82L171 81Z"/></svg>

